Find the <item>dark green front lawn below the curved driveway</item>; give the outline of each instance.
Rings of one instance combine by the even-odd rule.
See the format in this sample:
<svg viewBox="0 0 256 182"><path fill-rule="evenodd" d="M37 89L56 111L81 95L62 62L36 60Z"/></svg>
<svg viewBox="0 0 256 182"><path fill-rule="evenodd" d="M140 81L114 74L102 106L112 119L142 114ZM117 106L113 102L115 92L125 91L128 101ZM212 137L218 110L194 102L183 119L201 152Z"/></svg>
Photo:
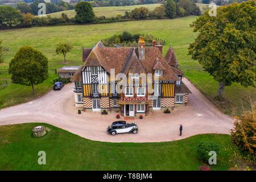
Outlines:
<svg viewBox="0 0 256 182"><path fill-rule="evenodd" d="M204 134L160 143L107 143L47 124L43 125L51 131L34 138L32 127L36 125L39 123L0 126L0 170L198 170L203 163L197 144L206 140L220 146L212 170L227 170L237 159L229 135ZM38 164L39 151L46 152L46 165Z"/></svg>

